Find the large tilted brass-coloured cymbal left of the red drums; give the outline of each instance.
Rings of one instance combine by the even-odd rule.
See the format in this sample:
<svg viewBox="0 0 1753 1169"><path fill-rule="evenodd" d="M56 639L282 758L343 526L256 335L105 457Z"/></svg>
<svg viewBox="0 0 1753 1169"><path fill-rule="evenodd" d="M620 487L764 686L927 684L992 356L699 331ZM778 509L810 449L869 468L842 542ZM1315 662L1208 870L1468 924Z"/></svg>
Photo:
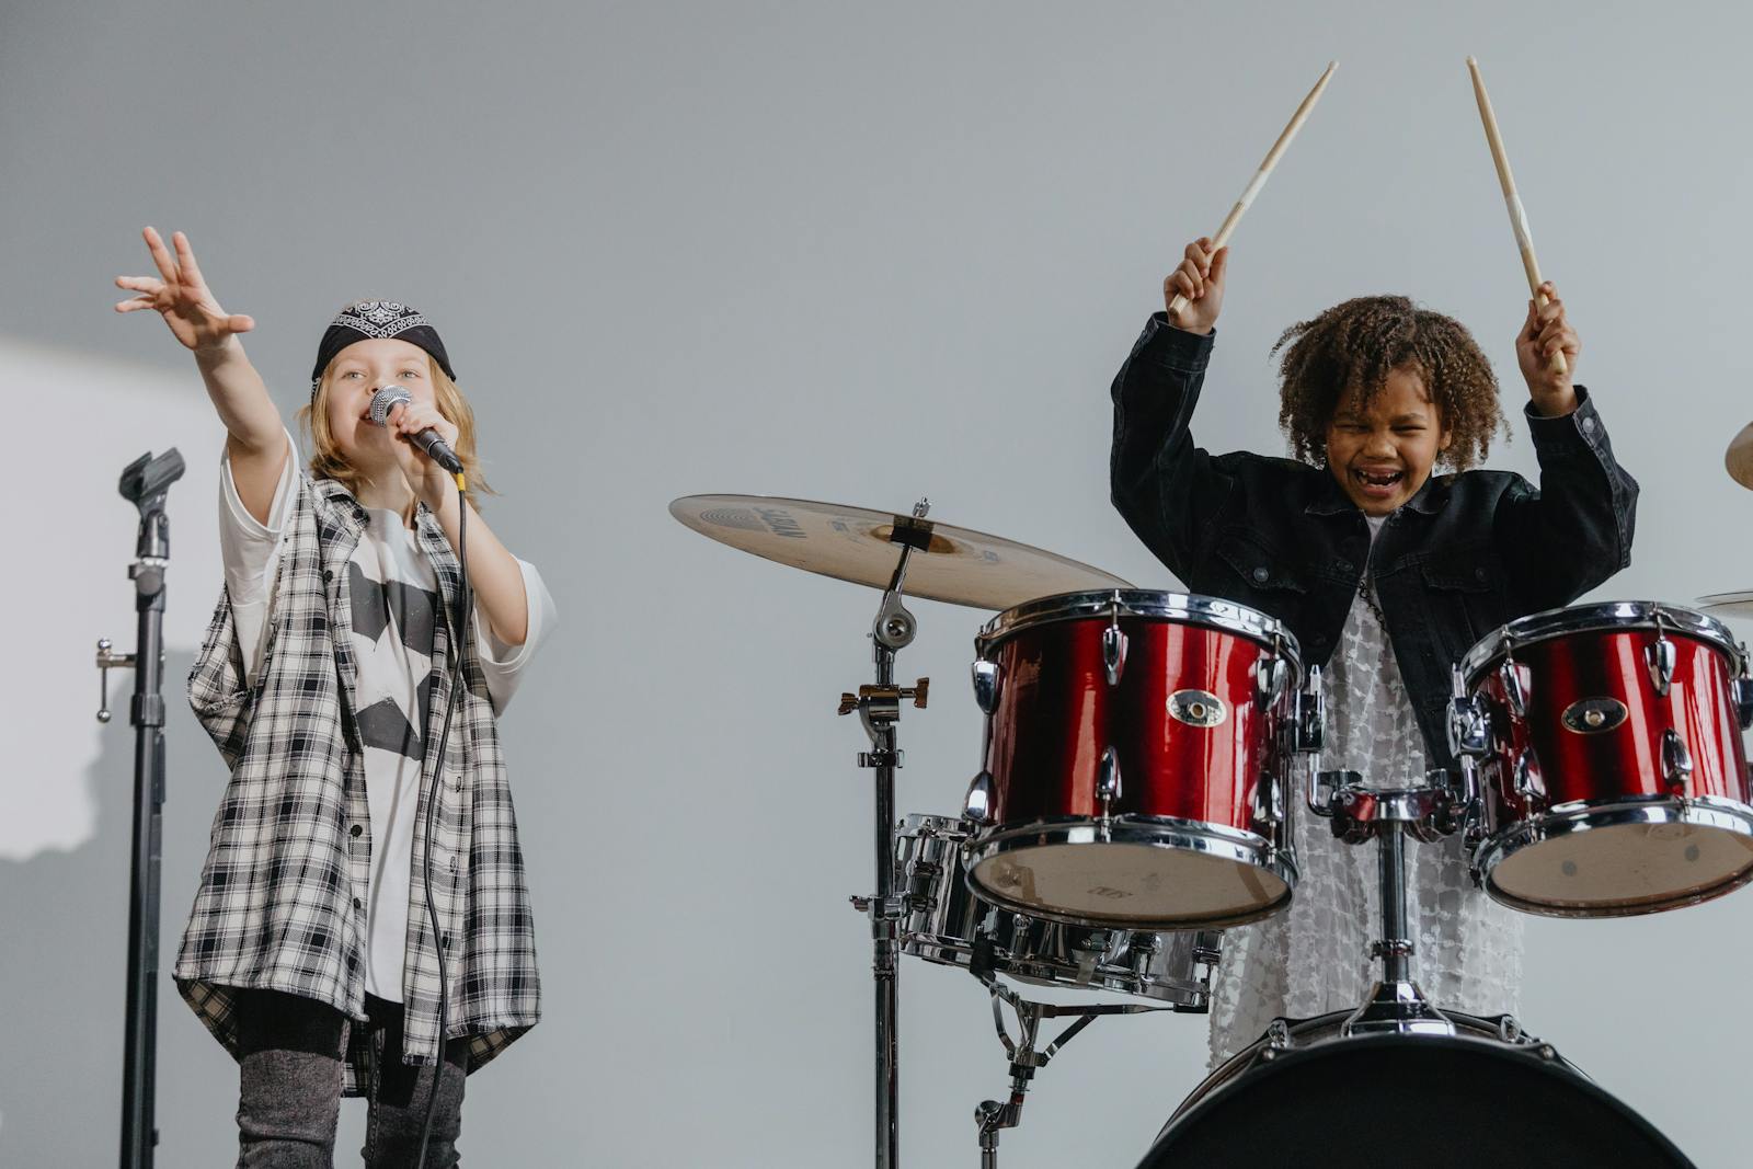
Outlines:
<svg viewBox="0 0 1753 1169"><path fill-rule="evenodd" d="M973 608L1010 608L1055 592L1131 589L1125 580L1054 552L896 512L778 496L682 496L670 515L719 543L822 577L887 589L901 545L917 529L906 596Z"/></svg>

